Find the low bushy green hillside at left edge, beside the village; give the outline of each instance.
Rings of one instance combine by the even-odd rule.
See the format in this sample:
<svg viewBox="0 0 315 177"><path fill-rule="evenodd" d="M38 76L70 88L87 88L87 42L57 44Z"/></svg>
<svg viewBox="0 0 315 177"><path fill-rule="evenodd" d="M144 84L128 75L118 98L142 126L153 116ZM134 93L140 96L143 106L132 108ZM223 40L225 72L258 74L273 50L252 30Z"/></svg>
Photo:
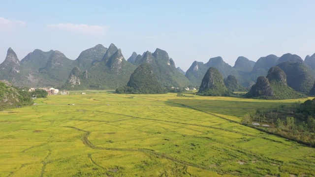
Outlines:
<svg viewBox="0 0 315 177"><path fill-rule="evenodd" d="M31 94L0 80L0 110L32 105Z"/></svg>

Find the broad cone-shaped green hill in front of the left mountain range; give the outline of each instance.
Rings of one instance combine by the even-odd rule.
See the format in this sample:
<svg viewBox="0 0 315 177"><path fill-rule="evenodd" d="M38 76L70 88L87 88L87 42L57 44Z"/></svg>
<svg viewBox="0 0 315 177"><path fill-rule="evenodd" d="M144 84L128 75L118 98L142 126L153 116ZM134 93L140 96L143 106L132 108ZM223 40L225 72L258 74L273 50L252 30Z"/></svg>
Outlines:
<svg viewBox="0 0 315 177"><path fill-rule="evenodd" d="M140 64L130 76L125 88L116 89L117 93L159 94L166 93L161 87L149 63Z"/></svg>

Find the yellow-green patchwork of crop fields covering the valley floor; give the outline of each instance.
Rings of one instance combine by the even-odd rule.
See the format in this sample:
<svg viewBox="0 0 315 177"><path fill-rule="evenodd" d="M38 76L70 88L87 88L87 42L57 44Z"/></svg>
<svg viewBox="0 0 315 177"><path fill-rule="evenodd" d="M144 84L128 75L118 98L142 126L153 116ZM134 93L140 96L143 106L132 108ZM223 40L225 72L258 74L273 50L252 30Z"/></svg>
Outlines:
<svg viewBox="0 0 315 177"><path fill-rule="evenodd" d="M240 124L298 100L85 92L0 112L0 177L315 176L315 148Z"/></svg>

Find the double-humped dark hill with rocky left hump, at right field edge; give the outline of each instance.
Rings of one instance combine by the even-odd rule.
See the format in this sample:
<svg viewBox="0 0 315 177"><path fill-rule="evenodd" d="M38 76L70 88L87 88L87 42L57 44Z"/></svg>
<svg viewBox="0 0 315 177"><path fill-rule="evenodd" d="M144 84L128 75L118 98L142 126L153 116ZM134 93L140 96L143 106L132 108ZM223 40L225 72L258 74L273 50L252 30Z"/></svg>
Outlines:
<svg viewBox="0 0 315 177"><path fill-rule="evenodd" d="M252 86L246 96L258 99L296 99L307 97L287 86L286 75L277 66L269 69L267 77L258 77L256 84Z"/></svg>

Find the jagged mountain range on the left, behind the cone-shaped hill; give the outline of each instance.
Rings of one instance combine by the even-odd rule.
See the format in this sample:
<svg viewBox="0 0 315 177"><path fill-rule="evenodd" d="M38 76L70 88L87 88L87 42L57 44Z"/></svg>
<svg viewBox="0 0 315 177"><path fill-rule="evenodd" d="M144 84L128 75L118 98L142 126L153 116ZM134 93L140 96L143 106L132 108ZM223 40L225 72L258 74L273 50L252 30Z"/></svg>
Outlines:
<svg viewBox="0 0 315 177"><path fill-rule="evenodd" d="M117 89L126 86L132 72L141 63L149 63L162 87L188 87L188 78L176 69L166 51L157 49L143 55L135 52L126 61L121 49L98 44L83 51L75 60L60 51L34 50L19 61L9 48L0 64L0 79L18 87L57 87L62 89Z"/></svg>

